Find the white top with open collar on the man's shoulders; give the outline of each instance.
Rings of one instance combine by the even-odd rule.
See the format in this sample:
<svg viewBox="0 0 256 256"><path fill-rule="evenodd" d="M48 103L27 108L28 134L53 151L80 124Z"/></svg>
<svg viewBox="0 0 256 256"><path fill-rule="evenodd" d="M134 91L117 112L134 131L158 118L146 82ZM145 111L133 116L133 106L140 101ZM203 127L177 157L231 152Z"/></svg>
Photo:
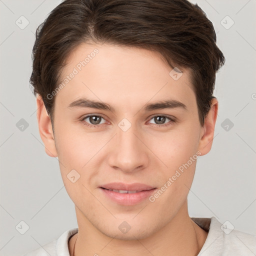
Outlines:
<svg viewBox="0 0 256 256"><path fill-rule="evenodd" d="M230 224L224 222L222 225L215 217L191 217L191 219L205 231L208 231L198 256L256 255L256 235L231 229L229 228ZM77 232L77 227L66 230L57 239L23 256L70 256L68 239Z"/></svg>

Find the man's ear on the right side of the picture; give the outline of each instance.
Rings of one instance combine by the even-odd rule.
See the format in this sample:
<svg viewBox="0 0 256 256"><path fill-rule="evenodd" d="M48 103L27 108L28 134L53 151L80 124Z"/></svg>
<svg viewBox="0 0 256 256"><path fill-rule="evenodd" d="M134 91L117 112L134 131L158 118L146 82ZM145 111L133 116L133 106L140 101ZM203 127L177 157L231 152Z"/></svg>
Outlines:
<svg viewBox="0 0 256 256"><path fill-rule="evenodd" d="M216 98L212 98L211 107L208 114L205 116L204 125L200 134L198 150L201 152L201 155L204 155L210 151L214 135L217 112L218 101Z"/></svg>

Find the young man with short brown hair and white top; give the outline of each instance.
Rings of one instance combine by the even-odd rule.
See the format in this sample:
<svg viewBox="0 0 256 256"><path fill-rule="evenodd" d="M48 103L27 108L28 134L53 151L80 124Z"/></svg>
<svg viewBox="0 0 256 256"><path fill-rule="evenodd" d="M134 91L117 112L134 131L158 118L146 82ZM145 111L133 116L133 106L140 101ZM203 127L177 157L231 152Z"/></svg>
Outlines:
<svg viewBox="0 0 256 256"><path fill-rule="evenodd" d="M256 238L188 215L224 63L186 0L65 0L36 31L30 82L78 228L32 255L252 255Z"/></svg>

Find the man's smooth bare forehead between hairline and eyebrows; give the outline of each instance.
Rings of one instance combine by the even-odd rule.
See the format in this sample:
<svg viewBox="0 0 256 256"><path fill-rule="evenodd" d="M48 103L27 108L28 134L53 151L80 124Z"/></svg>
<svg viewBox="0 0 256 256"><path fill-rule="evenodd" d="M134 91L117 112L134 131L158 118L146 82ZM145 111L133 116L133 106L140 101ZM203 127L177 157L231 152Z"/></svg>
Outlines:
<svg viewBox="0 0 256 256"><path fill-rule="evenodd" d="M67 106L86 97L124 106L172 98L194 104L189 70L183 69L181 76L177 73L178 79L171 76L174 71L155 51L83 43L66 59L56 102L61 98Z"/></svg>

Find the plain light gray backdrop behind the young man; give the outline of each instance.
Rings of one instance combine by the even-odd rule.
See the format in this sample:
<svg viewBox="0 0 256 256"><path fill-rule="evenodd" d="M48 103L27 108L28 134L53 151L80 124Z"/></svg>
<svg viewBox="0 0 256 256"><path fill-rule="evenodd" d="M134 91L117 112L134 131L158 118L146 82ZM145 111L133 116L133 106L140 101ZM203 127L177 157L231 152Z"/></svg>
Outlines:
<svg viewBox="0 0 256 256"><path fill-rule="evenodd" d="M29 87L35 29L59 2L0 0L0 255L22 255L77 226L58 161L44 151ZM213 145L197 160L189 215L215 216L256 234L256 0L192 2L213 22L226 62L216 75ZM23 29L15 23L21 15L29 21ZM228 29L226 15L234 21ZM28 123L23 131L16 126L21 118ZM21 220L29 226L24 234L16 229Z"/></svg>

